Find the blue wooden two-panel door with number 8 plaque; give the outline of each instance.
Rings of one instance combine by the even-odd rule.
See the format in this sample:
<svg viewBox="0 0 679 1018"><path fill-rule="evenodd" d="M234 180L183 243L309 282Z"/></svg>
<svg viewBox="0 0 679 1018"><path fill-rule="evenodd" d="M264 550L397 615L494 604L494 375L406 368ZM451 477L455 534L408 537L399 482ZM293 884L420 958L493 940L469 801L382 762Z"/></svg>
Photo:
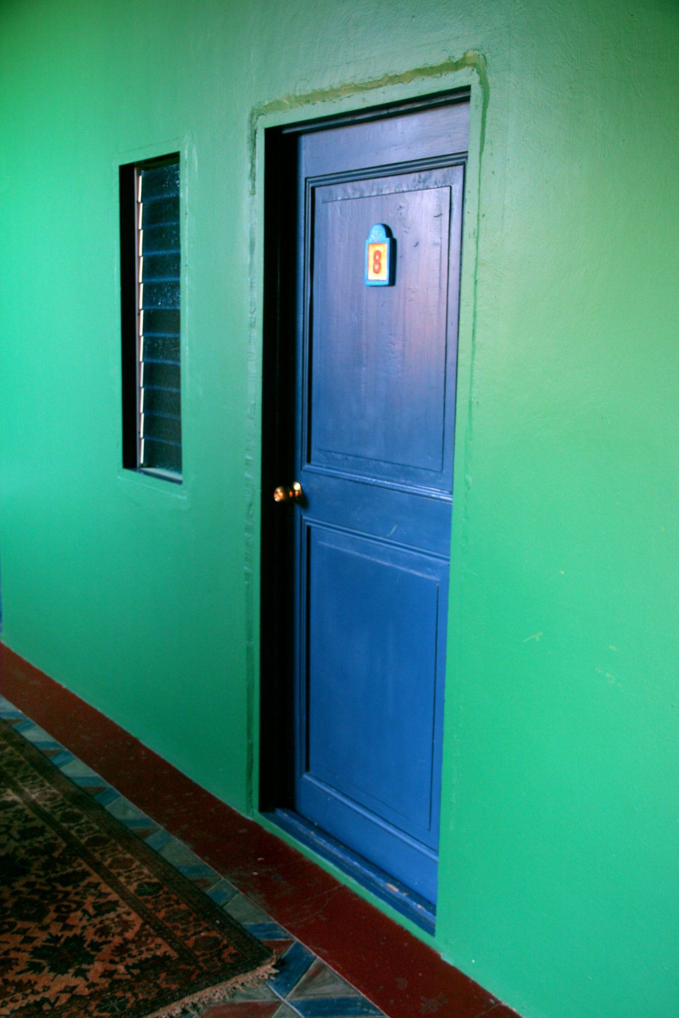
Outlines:
<svg viewBox="0 0 679 1018"><path fill-rule="evenodd" d="M466 113L318 130L298 155L294 807L430 902ZM376 225L388 285L366 285Z"/></svg>

